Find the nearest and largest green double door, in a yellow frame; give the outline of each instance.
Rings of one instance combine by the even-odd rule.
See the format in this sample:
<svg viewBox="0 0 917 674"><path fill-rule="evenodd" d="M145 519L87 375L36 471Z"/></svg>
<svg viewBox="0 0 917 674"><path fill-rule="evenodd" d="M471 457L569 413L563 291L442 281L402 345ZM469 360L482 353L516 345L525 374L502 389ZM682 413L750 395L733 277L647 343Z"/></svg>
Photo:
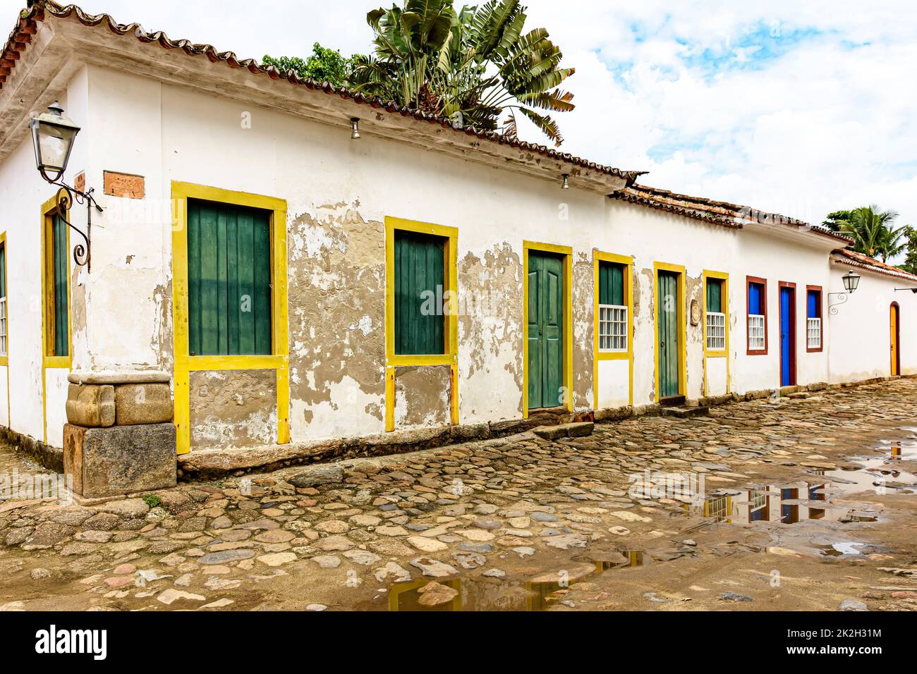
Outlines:
<svg viewBox="0 0 917 674"><path fill-rule="evenodd" d="M563 404L563 260L528 255L528 407Z"/></svg>

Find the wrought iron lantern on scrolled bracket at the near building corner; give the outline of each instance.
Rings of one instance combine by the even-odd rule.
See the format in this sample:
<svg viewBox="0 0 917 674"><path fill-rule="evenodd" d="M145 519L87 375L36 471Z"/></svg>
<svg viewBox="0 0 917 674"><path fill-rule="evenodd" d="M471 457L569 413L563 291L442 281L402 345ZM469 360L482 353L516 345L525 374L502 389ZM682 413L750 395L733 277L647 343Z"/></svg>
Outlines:
<svg viewBox="0 0 917 674"><path fill-rule="evenodd" d="M48 106L48 112L32 119L29 128L32 130L32 144L35 147L35 163L41 177L52 185L58 186L58 193L54 197L58 207L58 215L73 231L83 237L85 245L78 243L73 247L73 261L81 267L89 266L89 237L93 227L93 208L100 213L102 206L95 202L93 189L85 192L63 182L67 162L73 149L73 141L80 133L80 127L73 124L72 119L63 115L61 104L55 101ZM68 213L73 202L86 204L86 231L83 233L74 227L64 214Z"/></svg>

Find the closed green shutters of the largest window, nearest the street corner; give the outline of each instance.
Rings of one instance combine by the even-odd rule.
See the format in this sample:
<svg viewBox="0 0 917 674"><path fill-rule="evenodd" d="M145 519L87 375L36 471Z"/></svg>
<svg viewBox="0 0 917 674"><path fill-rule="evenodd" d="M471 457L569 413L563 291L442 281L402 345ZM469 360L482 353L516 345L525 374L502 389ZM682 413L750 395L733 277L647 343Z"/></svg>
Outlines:
<svg viewBox="0 0 917 674"><path fill-rule="evenodd" d="M188 201L192 356L270 355L271 214Z"/></svg>

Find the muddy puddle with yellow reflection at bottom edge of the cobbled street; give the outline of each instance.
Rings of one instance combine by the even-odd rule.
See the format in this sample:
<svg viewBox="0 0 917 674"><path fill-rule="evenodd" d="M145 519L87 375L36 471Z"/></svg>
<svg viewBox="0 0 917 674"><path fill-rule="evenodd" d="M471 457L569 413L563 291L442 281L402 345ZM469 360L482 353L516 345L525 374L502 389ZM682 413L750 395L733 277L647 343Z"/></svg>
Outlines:
<svg viewBox="0 0 917 674"><path fill-rule="evenodd" d="M610 569L642 567L650 562L643 550L609 553L606 561L581 560L569 569L549 571L525 580L493 583L476 579L439 580L458 594L438 606L420 603L420 592L430 580L392 586L389 611L545 611L563 601L570 585Z"/></svg>

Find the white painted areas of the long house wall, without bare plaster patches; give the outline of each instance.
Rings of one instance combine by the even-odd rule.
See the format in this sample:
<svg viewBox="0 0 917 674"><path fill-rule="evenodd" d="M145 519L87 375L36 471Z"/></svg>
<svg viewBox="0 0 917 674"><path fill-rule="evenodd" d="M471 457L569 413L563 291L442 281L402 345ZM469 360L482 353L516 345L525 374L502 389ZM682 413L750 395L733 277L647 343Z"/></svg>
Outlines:
<svg viewBox="0 0 917 674"><path fill-rule="evenodd" d="M584 192L577 189L575 178L573 188L565 192L559 179L538 180L376 138L370 119L364 122L363 138L355 142L344 125L327 127L122 72L89 67L73 81L69 97L68 114L84 127L72 172L85 169L87 184L99 193L105 170L142 175L147 192L143 201L99 194L105 213L94 216L93 270L91 274L79 271L74 285L74 301L81 301L77 298L84 293L82 302L88 304L85 325L74 326L74 369L171 370L171 182L181 181L283 198L291 222L302 215L326 222L349 210L367 222L382 222L393 215L458 227L458 260L467 255L484 259L502 245L512 249L516 257L513 292L478 305L484 307L474 316L482 326L479 342L471 344L459 333L462 424L520 415L524 240L572 247L575 274L588 269L590 279L593 250L634 257L635 404L656 399L652 271L656 261L686 267L689 298L682 307L686 320L691 297L702 304L702 271L729 274L728 381L726 359L708 359L707 394L779 386L780 281L797 284L799 383L888 374L887 344L879 345L881 330L856 320L852 311L843 313L856 303L878 303L869 295L873 291L867 290L871 279L870 283L864 279L863 291L842 308L839 317L826 322L823 352L806 352L806 284L823 286L825 315L827 293L840 285L840 272L829 270L827 239L786 238L780 230L739 231L703 223ZM251 125L245 127L249 117ZM28 138L23 138L20 148L0 164L0 230L6 228L9 247L12 427L39 438L43 419L38 207L50 192L34 169ZM81 212L74 218L81 225L82 216ZM308 256L335 243L303 228L291 233L288 245L294 256ZM746 355L746 275L768 279L767 356ZM310 282L317 289L330 279ZM880 283L875 287L888 293L889 283ZM458 290L461 295L463 286ZM576 293L573 298L575 304L588 306L575 321L574 335L591 352L592 298L587 295ZM901 304L902 335L912 334L908 329L917 321L917 296L898 293L895 299ZM887 305L881 324L886 331ZM845 319L851 325L839 323ZM348 344L359 348L365 340L381 338L384 326L361 323L351 332ZM687 395L697 398L705 393L702 323L689 325L687 336ZM834 337L830 344L829 337ZM861 346L865 343L879 346L867 353ZM487 359L482 367L472 367L473 351L480 350L481 344L486 345ZM291 348L312 345L292 340ZM591 377L591 359L574 361L578 368L585 368L583 362L588 361L589 369L576 374ZM905 339L902 365L905 372L917 372L917 354L911 354ZM383 369L380 362L380 378ZM599 406L626 404L630 397L627 362L602 361L598 370L599 380L593 385L598 387ZM291 374L310 381L313 373ZM47 375L52 444L60 444L65 377L63 371ZM374 404L384 409L381 396L361 391L349 377L329 385L313 383L330 392L330 402L307 405L293 399L294 441L383 430L382 420L370 412ZM582 396L589 403L579 401L578 408L591 406L591 395L590 390ZM304 420L307 412L313 414L311 423Z"/></svg>

